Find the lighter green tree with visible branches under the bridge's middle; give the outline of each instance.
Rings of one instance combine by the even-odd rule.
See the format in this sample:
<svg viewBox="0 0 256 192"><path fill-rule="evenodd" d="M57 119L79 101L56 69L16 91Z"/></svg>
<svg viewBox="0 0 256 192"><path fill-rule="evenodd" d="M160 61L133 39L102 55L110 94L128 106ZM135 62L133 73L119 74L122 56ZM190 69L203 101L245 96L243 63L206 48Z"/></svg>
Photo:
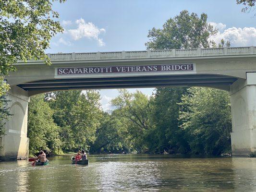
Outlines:
<svg viewBox="0 0 256 192"><path fill-rule="evenodd" d="M139 152L148 151L145 143L145 136L151 129L149 99L140 91L129 93L126 89L121 89L119 96L111 101L116 108L114 114L124 121L130 135L130 142L134 149Z"/></svg>

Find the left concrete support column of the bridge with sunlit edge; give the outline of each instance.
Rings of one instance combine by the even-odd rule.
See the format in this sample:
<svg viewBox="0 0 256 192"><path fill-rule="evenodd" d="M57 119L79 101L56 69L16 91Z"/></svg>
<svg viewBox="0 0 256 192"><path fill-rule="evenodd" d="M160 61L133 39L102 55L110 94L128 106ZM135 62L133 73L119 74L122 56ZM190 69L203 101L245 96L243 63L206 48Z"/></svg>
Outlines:
<svg viewBox="0 0 256 192"><path fill-rule="evenodd" d="M18 86L7 92L12 116L6 121L6 134L0 137L0 159L25 159L28 157L27 113L29 96Z"/></svg>

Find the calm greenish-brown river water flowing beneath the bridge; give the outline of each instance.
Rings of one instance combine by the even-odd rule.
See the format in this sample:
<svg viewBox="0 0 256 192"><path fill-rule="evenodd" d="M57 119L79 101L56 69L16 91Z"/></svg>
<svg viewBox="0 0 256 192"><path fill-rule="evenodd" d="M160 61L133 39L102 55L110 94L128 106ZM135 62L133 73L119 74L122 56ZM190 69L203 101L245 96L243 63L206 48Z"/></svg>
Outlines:
<svg viewBox="0 0 256 192"><path fill-rule="evenodd" d="M256 158L88 157L87 166L71 165L71 156L50 157L41 167L0 162L0 192L256 192Z"/></svg>

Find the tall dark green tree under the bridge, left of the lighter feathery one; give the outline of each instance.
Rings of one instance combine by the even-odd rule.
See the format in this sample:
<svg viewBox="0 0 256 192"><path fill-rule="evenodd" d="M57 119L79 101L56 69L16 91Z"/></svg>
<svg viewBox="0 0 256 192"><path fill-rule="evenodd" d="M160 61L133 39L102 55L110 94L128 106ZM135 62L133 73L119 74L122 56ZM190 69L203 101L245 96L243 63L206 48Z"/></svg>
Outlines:
<svg viewBox="0 0 256 192"><path fill-rule="evenodd" d="M184 139L184 132L179 128L179 111L181 97L186 88L157 88L153 100L152 119L156 127L154 139L155 152L173 151L186 153L189 146ZM150 143L149 143L150 144ZM153 150L153 147L151 147ZM153 152L153 151L152 151Z"/></svg>

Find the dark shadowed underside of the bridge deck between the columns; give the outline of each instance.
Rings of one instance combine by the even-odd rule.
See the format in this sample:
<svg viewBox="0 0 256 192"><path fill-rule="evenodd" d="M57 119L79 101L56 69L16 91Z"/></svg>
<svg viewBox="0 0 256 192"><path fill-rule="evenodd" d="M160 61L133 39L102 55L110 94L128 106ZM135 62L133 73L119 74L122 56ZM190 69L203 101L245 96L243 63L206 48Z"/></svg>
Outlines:
<svg viewBox="0 0 256 192"><path fill-rule="evenodd" d="M137 88L161 86L210 86L229 90L230 84L237 78L223 75L191 74L191 75L158 75L138 77L108 77L108 78L76 78L52 79L18 84L25 91L43 93L67 89L110 89Z"/></svg>

